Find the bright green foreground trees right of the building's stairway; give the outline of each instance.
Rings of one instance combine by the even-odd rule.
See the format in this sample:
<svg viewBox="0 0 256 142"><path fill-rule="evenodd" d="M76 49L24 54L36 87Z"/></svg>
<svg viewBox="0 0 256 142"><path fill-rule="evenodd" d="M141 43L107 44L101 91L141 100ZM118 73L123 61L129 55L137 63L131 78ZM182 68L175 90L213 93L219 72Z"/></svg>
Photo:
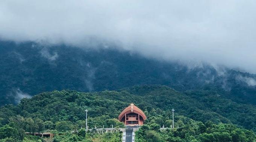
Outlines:
<svg viewBox="0 0 256 142"><path fill-rule="evenodd" d="M176 118L179 127L160 130L158 124L145 124L136 131L136 142L256 142L254 132L232 124L194 121L184 116Z"/></svg>

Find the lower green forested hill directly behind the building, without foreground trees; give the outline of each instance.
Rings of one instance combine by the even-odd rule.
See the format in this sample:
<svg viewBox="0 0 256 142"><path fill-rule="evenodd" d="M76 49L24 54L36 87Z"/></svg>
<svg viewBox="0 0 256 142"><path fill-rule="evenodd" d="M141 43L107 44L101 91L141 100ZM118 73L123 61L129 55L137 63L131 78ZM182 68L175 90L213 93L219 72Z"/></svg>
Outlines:
<svg viewBox="0 0 256 142"><path fill-rule="evenodd" d="M88 114L91 118L117 118L129 103L135 103L144 110L149 118L147 121L155 119L161 125L171 116L171 109L174 107L177 115L184 115L197 121L232 122L256 131L254 124L256 107L254 105L235 103L214 92L180 93L167 86L159 85L134 86L119 91L91 93L45 92L31 99L23 99L18 106L3 106L0 117L3 118L4 123L7 123L8 118L14 115L38 117L54 123L59 120L77 121L85 118L84 110L89 107Z"/></svg>

